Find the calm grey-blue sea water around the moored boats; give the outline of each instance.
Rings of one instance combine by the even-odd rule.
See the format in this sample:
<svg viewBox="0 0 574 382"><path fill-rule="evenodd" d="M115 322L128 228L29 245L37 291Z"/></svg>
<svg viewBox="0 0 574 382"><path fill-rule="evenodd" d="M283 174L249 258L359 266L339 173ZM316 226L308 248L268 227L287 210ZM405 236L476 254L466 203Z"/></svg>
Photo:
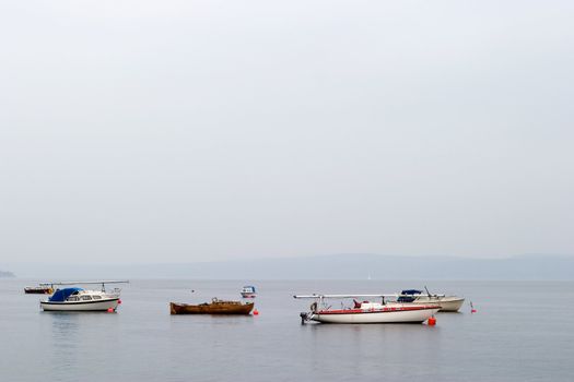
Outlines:
<svg viewBox="0 0 574 382"><path fill-rule="evenodd" d="M429 283L471 299L437 325L301 325L293 294L394 293L417 282L259 282L258 317L169 315L238 298L242 282L132 280L117 313L50 313L0 280L1 381L572 381L574 284ZM190 290L196 293L191 294Z"/></svg>

